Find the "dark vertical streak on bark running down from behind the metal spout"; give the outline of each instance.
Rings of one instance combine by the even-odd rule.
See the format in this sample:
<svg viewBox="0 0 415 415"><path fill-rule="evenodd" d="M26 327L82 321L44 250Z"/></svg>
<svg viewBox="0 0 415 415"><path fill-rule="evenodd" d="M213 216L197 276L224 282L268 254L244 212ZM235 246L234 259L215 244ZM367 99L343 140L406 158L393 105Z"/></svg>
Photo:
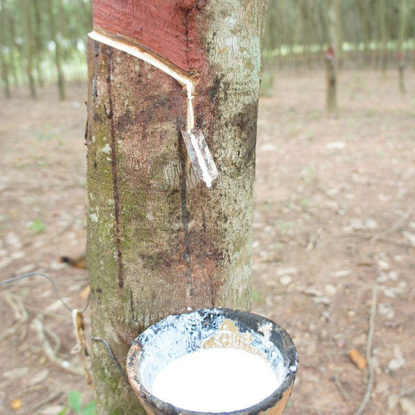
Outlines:
<svg viewBox="0 0 415 415"><path fill-rule="evenodd" d="M178 121L179 124L179 121ZM177 129L177 136L178 136L178 152L180 156L181 162L181 208L182 208L182 221L183 221L183 228L185 230L185 260L186 260L186 278L187 284L189 284L189 292L190 295L193 295L193 287L192 287L192 266L191 266L191 252L190 252L190 232L189 232L189 216L187 215L187 189L186 189L186 170L187 170L187 151L183 146L183 138L181 136L180 128Z"/></svg>

